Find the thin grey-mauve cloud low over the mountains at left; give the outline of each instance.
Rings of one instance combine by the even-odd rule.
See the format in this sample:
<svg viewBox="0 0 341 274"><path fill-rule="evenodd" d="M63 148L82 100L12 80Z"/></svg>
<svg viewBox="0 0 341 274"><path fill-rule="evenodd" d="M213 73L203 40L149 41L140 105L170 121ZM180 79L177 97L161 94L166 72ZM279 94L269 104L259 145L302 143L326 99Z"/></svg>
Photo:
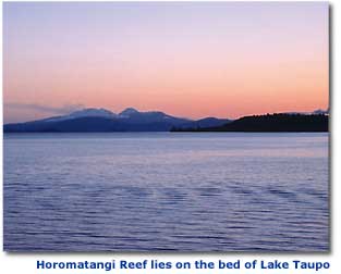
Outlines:
<svg viewBox="0 0 341 274"><path fill-rule="evenodd" d="M36 103L16 103L16 102L10 102L4 103L4 108L9 109L20 109L20 110L33 110L49 114L69 114L71 112L84 109L84 104L64 104L62 107L48 107L48 105L41 105Z"/></svg>

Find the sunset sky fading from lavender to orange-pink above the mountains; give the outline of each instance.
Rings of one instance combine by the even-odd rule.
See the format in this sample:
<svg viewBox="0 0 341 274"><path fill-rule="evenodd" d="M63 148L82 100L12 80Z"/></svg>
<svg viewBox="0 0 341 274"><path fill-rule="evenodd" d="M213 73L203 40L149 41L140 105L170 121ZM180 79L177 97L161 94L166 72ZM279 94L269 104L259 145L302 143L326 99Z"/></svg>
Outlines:
<svg viewBox="0 0 341 274"><path fill-rule="evenodd" d="M82 108L199 119L329 105L327 2L5 2L4 123Z"/></svg>

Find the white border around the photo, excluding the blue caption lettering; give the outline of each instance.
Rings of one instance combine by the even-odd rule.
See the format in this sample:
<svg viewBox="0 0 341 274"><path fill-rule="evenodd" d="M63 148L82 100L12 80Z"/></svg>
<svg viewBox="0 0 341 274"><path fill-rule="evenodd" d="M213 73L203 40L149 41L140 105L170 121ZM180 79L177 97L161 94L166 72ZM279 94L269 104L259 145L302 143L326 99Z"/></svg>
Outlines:
<svg viewBox="0 0 341 274"><path fill-rule="evenodd" d="M338 90L338 84L340 84L340 74L338 75L338 71L340 72L340 54L338 54L338 49L341 48L341 39L340 35L338 36L337 29L341 28L341 12L340 8L341 4L337 7L336 1L329 2L330 3L330 16L331 16L331 72L330 72L330 105L331 105L331 252L329 253L315 253L315 254L302 254L302 253L280 253L280 254L257 254L257 253L249 253L249 254L241 254L241 253L187 253L187 254L159 254L159 253L126 253L126 254L117 254L114 252L111 253L29 253L29 254L9 254L5 252L0 253L0 273L113 273L106 272L106 271L71 271L71 270L62 270L62 271L40 271L36 269L36 261L37 260L45 260L45 261L111 261L115 260L117 262L119 260L127 260L127 261L143 261L145 259L148 260L158 260L158 261L190 261L194 262L195 260L205 260L205 261L214 261L217 262L219 259L223 261L234 261L238 259L241 259L242 262L245 261L253 261L253 260L280 260L280 261L289 261L292 260L301 260L301 261L327 261L331 264L330 270L325 271L303 271L303 270L267 270L269 273L287 273L287 274L295 274L295 273L331 273L337 274L340 273L339 270L341 270L341 242L340 242L340 232L341 232L341 197L340 197L340 179L341 179L341 169L340 169L340 161L341 161L341 146L339 145L339 140L341 140L341 124L340 124L340 115L341 115L341 96L339 95ZM2 52L2 7L0 11L0 17L1 17L1 52ZM339 70L338 70L339 68ZM1 54L1 86L2 86L2 54ZM340 85L339 85L340 86ZM2 89L1 89L1 101L2 101ZM2 102L0 103L0 122L2 123ZM1 146L0 146L0 161L2 163L2 130L1 132ZM0 211L2 212L3 204L2 204L2 169L0 169L0 177L1 177L1 188L0 188ZM0 247L2 247L2 219L0 221L0 229L1 229L1 237L0 237ZM338 233L339 232L339 233ZM130 270L130 271L123 271L123 270L114 270L115 273L119 274L126 274L126 273L158 273L158 274L170 274L170 273L207 273L207 274L219 274L219 273L266 273L265 270Z"/></svg>

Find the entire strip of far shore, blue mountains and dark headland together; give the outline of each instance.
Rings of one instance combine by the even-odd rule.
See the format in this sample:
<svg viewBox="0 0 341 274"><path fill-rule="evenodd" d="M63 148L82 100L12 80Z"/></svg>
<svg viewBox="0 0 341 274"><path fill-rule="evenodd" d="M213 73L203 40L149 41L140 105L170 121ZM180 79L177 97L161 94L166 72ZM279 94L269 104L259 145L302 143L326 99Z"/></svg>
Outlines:
<svg viewBox="0 0 341 274"><path fill-rule="evenodd" d="M206 117L191 121L163 112L126 110L119 115L92 109L65 116L3 125L4 133L132 133L132 132L328 132L329 114L276 113L238 120ZM94 113L95 112L95 113Z"/></svg>

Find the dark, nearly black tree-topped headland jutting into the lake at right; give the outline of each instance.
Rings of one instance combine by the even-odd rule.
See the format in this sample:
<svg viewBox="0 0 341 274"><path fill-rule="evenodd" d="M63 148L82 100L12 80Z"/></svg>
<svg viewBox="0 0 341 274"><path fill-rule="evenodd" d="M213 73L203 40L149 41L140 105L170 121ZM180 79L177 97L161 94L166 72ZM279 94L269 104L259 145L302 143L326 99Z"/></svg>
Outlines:
<svg viewBox="0 0 341 274"><path fill-rule="evenodd" d="M244 116L231 123L204 128L172 128L173 132L328 132L327 114L267 114Z"/></svg>

